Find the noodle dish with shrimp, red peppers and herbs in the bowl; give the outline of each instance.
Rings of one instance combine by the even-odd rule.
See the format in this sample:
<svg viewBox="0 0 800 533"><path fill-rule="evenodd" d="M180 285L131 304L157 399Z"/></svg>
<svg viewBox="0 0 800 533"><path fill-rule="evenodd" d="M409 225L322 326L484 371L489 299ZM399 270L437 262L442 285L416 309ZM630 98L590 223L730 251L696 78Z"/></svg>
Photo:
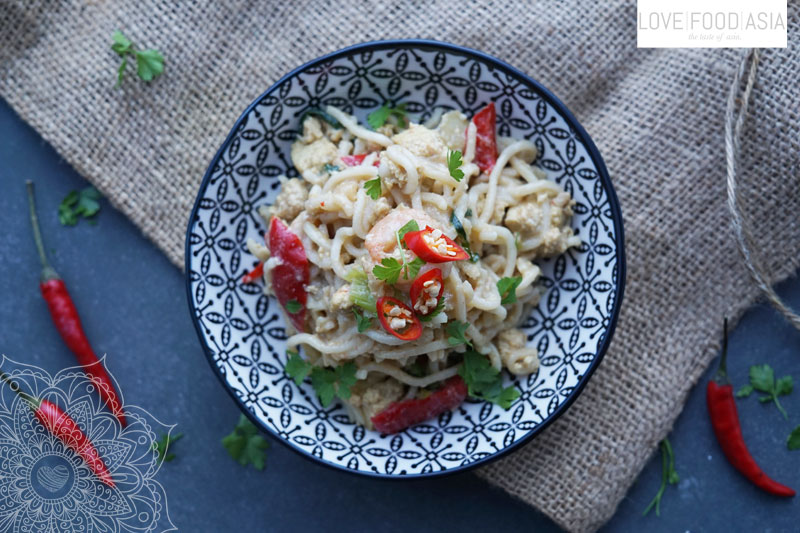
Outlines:
<svg viewBox="0 0 800 533"><path fill-rule="evenodd" d="M383 433L467 396L508 408L519 392L501 370L539 366L517 328L542 293L536 260L580 245L574 201L533 143L496 135L494 104L425 124L383 106L367 122L305 114L300 177L281 178L259 208L266 242L247 243L260 263L244 281L263 276L287 319L286 372Z"/></svg>

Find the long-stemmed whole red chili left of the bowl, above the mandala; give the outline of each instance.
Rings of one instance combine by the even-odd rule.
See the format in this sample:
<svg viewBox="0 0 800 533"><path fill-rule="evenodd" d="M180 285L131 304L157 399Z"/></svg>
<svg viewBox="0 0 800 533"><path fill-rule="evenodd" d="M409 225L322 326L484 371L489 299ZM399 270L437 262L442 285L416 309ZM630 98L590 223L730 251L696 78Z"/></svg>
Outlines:
<svg viewBox="0 0 800 533"><path fill-rule="evenodd" d="M114 383L111 381L103 364L95 355L86 334L81 326L81 319L78 310L55 269L47 261L44 253L44 243L42 233L39 230L39 219L36 216L36 203L33 196L33 182L26 182L28 188L28 207L31 213L31 225L33 226L33 238L36 241L36 249L39 251L39 259L42 261L42 280L39 288L42 291L44 301L50 309L50 316L56 325L58 333L64 339L64 343L75 354L78 364L81 365L86 375L97 388L100 398L108 405L114 416L117 417L122 427L127 425L125 415L122 413L122 402L119 400Z"/></svg>

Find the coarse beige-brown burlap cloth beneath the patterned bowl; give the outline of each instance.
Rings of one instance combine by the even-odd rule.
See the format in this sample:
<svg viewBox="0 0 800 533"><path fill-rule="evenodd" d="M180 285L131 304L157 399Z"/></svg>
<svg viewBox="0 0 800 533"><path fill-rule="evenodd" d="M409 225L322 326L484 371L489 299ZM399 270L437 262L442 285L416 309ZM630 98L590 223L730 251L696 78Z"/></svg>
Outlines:
<svg viewBox="0 0 800 533"><path fill-rule="evenodd" d="M763 55L740 180L765 263L798 266L800 51ZM166 56L113 88L114 29ZM0 94L178 266L200 179L245 106L282 74L360 41L422 37L539 79L594 138L622 203L628 257L616 338L570 410L479 473L565 528L614 512L756 297L725 208L723 116L737 50L637 50L634 2L0 1Z"/></svg>

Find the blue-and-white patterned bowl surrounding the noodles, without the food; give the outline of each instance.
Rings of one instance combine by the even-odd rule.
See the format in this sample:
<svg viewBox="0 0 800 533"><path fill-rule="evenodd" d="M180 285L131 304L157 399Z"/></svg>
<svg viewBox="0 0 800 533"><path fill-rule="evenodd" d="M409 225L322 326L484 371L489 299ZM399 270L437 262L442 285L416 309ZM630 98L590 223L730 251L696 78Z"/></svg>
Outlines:
<svg viewBox="0 0 800 533"><path fill-rule="evenodd" d="M338 106L360 120L385 102L416 121L436 107L468 116L494 101L500 135L531 139L537 164L575 198L580 248L541 264L547 289L523 330L541 366L506 376L521 392L509 410L468 400L397 435L323 408L310 384L283 372L283 319L260 284L248 237L265 227L256 207L297 176L289 150L309 107ZM603 160L572 113L525 74L480 52L434 41L356 45L281 78L236 121L203 178L186 237L189 307L209 363L242 410L290 448L346 471L422 477L464 470L529 441L575 400L611 340L625 282L622 216Z"/></svg>

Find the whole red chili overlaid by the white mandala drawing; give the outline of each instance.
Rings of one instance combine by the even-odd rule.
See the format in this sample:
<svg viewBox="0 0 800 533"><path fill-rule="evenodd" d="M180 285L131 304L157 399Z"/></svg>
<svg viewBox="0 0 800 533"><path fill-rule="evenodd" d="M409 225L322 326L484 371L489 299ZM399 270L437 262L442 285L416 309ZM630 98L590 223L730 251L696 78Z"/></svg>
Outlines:
<svg viewBox="0 0 800 533"><path fill-rule="evenodd" d="M28 403L34 416L47 431L55 435L69 448L72 448L75 453L86 461L86 464L100 478L100 481L109 487L114 486L114 480L111 478L111 472L109 472L108 467L103 462L100 454L97 453L97 449L92 445L89 437L81 431L80 426L72 417L62 411L56 404L48 400L34 398L30 394L21 391L19 385L11 380L5 372L0 372L0 380L8 383L11 390Z"/></svg>

